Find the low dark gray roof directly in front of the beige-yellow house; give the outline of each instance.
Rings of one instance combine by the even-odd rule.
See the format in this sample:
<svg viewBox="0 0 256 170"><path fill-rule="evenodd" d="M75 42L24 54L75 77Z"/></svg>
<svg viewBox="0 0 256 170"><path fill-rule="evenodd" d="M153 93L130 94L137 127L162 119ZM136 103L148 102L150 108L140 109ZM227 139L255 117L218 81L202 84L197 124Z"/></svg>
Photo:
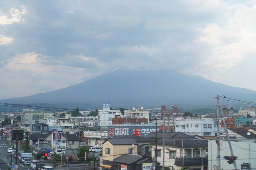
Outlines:
<svg viewBox="0 0 256 170"><path fill-rule="evenodd" d="M149 158L145 158L143 156L134 156L134 155L128 155L124 154L122 156L119 156L118 158L114 159L113 162L123 163L123 164L140 164L144 161L151 160Z"/></svg>

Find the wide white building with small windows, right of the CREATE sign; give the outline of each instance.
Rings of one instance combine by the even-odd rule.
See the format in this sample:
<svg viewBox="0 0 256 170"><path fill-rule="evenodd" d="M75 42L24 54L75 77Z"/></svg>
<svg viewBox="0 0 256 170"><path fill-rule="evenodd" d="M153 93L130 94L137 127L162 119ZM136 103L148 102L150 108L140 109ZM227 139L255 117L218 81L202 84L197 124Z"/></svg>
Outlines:
<svg viewBox="0 0 256 170"><path fill-rule="evenodd" d="M213 119L176 119L175 132L199 136L217 136L217 124ZM224 132L224 127L221 125L220 132Z"/></svg>

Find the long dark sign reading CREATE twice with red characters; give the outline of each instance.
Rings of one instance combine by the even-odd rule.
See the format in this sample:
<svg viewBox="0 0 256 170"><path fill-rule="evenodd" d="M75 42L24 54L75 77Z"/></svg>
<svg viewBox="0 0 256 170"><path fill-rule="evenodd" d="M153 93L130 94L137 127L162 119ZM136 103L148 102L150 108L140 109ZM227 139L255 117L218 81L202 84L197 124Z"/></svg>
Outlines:
<svg viewBox="0 0 256 170"><path fill-rule="evenodd" d="M112 125L108 126L108 137L116 138L128 135L146 136L151 132L156 132L156 126L145 125Z"/></svg>

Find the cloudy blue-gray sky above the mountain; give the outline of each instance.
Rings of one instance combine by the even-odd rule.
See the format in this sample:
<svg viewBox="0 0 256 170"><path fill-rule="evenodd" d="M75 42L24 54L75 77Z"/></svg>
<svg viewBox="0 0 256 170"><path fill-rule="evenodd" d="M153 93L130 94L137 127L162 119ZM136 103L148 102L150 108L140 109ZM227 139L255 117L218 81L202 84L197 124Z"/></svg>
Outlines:
<svg viewBox="0 0 256 170"><path fill-rule="evenodd" d="M255 0L1 0L0 99L113 68L256 90Z"/></svg>

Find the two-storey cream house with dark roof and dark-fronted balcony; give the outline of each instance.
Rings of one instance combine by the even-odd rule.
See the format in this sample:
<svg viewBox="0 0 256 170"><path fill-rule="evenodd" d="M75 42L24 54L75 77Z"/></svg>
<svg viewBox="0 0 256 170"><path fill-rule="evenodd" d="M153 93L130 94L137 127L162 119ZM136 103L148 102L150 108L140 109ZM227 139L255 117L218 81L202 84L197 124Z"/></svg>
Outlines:
<svg viewBox="0 0 256 170"><path fill-rule="evenodd" d="M165 147L163 147L163 140ZM184 168L185 170L207 170L208 169L208 140L204 139L160 139L157 142L157 148L152 143L152 157L157 156L157 162L160 163L160 169L171 170ZM164 150L163 150L164 149ZM164 155L163 155L164 154Z"/></svg>

